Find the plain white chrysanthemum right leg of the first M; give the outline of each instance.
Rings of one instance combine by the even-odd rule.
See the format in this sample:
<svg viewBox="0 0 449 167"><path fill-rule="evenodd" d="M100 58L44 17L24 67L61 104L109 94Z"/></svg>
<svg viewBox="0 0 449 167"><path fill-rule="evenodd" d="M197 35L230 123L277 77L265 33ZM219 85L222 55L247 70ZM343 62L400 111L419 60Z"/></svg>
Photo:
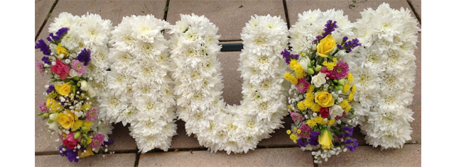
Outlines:
<svg viewBox="0 0 449 167"><path fill-rule="evenodd" d="M153 15L126 16L112 31L112 62L102 97L102 117L129 127L139 151L168 151L176 134L173 81L168 66L168 42L163 30L171 28Z"/></svg>

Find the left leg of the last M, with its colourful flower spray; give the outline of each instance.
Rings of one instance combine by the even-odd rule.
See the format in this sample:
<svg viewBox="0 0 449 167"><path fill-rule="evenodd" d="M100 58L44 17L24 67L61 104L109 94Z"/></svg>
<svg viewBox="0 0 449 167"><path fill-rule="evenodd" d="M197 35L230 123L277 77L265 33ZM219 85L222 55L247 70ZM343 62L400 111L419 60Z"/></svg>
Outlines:
<svg viewBox="0 0 449 167"><path fill-rule="evenodd" d="M293 52L281 52L288 67L293 70L292 73L284 74L292 84L289 93L293 93L293 98L289 98L288 108L295 121L287 134L301 149L312 150L315 163L321 163L323 159L328 161L330 156L347 149L355 151L358 146L357 139L352 138L358 117L350 105L357 88L352 83L349 64L342 57L352 52L360 43L357 39L350 40L343 36L347 33L345 30L350 28L337 30L339 21L349 23L345 17L339 19L339 13L342 16L341 11L309 11L304 13L304 17L300 14L298 23L291 30L291 43L301 44L303 49L297 50L296 46L293 47ZM326 14L335 16L338 21L328 20L324 24L324 19L330 18ZM325 26L315 30L319 27L303 25L301 32L309 30L308 32L320 33L314 35L315 38L303 36L310 40L305 41L306 43L295 41L298 35L294 33L301 28L301 19L311 18L308 15L318 17L315 22Z"/></svg>

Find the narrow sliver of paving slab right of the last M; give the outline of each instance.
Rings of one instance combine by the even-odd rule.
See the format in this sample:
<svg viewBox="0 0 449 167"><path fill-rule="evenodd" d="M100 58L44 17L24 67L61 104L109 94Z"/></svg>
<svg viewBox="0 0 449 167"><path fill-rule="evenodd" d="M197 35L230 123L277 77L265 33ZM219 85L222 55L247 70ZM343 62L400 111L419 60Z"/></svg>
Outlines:
<svg viewBox="0 0 449 167"><path fill-rule="evenodd" d="M413 122L411 122L411 128L413 133L411 134L411 141L408 143L421 143L421 33L418 33L418 43L416 43L418 49L415 50L416 56L416 75L415 75L415 87L413 88L413 102L411 103L411 110L413 111Z"/></svg>

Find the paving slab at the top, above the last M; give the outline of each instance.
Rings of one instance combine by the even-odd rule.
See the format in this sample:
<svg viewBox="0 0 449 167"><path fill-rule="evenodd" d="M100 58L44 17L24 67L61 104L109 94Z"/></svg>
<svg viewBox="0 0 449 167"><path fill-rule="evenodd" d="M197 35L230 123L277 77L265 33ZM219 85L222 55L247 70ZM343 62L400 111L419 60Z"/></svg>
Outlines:
<svg viewBox="0 0 449 167"><path fill-rule="evenodd" d="M320 9L320 11L327 11L328 9L335 8L335 10L342 9L344 11L344 15L347 15L349 20L355 22L357 18L362 18L360 16L360 12L365 8L373 8L374 10L382 3L387 3L390 5L390 8L399 9L401 7L410 8L410 5L406 0L369 0L369 1L359 1L355 4L355 7L350 8L351 1L335 1L335 0L286 0L287 10L288 10L288 18L290 21L290 25L293 25L298 21L298 13L303 13L303 11ZM413 11L411 11L411 15ZM324 24L323 24L324 25Z"/></svg>

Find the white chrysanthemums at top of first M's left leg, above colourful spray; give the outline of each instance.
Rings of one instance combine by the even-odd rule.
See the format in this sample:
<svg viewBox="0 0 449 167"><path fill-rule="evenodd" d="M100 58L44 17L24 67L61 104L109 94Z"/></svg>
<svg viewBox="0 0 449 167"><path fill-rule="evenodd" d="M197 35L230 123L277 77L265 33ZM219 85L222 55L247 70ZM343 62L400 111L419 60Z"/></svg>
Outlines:
<svg viewBox="0 0 449 167"><path fill-rule="evenodd" d="M70 54L76 59L81 50L89 49L90 62L87 65L85 77L98 95L106 93L106 70L109 69L107 54L108 42L111 38L112 23L103 20L98 14L87 13L83 16L73 16L71 13L60 13L55 22L50 24L48 31L56 33L60 28L69 28L61 44L67 50L75 51ZM53 44L52 44L53 45ZM55 45L50 46L55 48ZM67 63L67 62L65 62Z"/></svg>

